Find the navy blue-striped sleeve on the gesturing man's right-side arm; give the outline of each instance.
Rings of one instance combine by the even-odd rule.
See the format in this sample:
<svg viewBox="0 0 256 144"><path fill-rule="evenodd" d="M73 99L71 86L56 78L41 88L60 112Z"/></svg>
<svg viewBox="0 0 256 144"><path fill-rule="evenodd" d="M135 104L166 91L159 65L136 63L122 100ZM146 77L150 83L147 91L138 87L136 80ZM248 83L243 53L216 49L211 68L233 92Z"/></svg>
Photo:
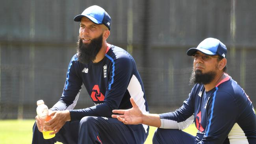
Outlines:
<svg viewBox="0 0 256 144"><path fill-rule="evenodd" d="M205 134L198 144L222 144L234 126L239 110L232 95L224 91L215 92L208 104Z"/></svg>

